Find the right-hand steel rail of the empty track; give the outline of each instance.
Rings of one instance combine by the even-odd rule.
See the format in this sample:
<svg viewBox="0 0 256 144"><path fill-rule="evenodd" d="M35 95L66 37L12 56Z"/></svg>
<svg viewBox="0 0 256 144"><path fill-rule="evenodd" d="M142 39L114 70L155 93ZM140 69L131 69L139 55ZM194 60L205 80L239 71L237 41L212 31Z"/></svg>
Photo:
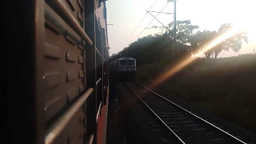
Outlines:
<svg viewBox="0 0 256 144"><path fill-rule="evenodd" d="M139 86L142 86L142 85L141 85L140 83L138 83L138 82L135 82L135 83L137 83ZM185 109L185 108L183 108L182 106L178 106L176 103L171 102L169 99L164 98L162 95L157 94L157 93L156 93L156 92L154 92L153 90L148 89L146 86L142 86L142 87L144 87L146 90L149 90L151 93L158 95L160 98L165 99L167 102L172 103L174 106L177 106L178 108L180 108L180 109L182 109L182 110L186 111L187 113L189 113L189 114L193 115L195 118L198 118L198 119L202 120L202 122L206 122L206 123L207 123L207 124L209 124L210 126L213 126L215 129L222 131L222 133L227 134L228 136L230 136L231 138L234 138L234 139L235 139L235 140L237 140L238 142L241 142L241 143L243 143L243 144L246 144L246 142L243 142L241 139L236 138L234 135L229 134L229 133L228 133L228 132L226 132L225 130L222 130L222 129L221 129L221 128L219 128L218 126L215 126L214 124L212 124L212 123L210 123L210 122L206 121L205 119L203 119L203 118L199 117L198 115L191 113L189 110L186 110L186 109Z"/></svg>

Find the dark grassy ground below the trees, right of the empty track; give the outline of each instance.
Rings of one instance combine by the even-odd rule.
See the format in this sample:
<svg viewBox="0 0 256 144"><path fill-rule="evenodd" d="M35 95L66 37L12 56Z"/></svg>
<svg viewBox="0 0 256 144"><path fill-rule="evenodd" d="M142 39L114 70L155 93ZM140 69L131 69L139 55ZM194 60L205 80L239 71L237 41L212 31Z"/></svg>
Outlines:
<svg viewBox="0 0 256 144"><path fill-rule="evenodd" d="M168 60L138 66L138 80L158 78ZM170 61L169 61L170 62ZM256 54L198 59L166 80L161 90L193 103L256 134ZM160 86L159 86L160 87Z"/></svg>

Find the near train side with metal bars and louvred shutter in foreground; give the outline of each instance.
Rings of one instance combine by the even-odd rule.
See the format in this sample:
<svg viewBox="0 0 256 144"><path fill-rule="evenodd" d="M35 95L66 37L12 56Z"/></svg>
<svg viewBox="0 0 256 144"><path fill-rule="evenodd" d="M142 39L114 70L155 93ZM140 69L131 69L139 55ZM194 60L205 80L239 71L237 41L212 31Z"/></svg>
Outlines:
<svg viewBox="0 0 256 144"><path fill-rule="evenodd" d="M27 144L106 143L106 0L31 0L6 7L13 10L3 23L10 35L5 37L3 138Z"/></svg>

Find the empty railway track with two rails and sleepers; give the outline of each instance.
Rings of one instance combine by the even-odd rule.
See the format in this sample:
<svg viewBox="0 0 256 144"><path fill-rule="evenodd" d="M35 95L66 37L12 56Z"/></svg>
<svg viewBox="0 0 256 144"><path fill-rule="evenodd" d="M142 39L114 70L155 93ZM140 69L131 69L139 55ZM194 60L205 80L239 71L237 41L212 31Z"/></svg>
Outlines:
<svg viewBox="0 0 256 144"><path fill-rule="evenodd" d="M234 136L221 127L214 126L190 110L137 82L127 82L126 86L162 122L162 126L177 138L179 143L246 143L241 140L241 136Z"/></svg>

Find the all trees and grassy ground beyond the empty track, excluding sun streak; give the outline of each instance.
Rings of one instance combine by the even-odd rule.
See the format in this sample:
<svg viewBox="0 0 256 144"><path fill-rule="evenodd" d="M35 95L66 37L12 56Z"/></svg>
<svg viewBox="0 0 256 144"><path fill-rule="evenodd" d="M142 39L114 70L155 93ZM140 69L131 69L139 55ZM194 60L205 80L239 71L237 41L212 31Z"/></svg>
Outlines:
<svg viewBox="0 0 256 144"><path fill-rule="evenodd" d="M218 31L196 31L198 26L192 25L190 21L177 23L176 63L190 58L232 28L230 24L224 24ZM173 23L169 26L172 27ZM123 56L136 58L136 78L154 82L173 66L172 38L171 30L139 38L111 57L110 61ZM256 54L218 58L222 50L237 52L242 42L247 42L244 32L227 38L206 51L203 58L197 58L178 71L174 80L167 78L158 86L158 90L173 94L256 133Z"/></svg>

